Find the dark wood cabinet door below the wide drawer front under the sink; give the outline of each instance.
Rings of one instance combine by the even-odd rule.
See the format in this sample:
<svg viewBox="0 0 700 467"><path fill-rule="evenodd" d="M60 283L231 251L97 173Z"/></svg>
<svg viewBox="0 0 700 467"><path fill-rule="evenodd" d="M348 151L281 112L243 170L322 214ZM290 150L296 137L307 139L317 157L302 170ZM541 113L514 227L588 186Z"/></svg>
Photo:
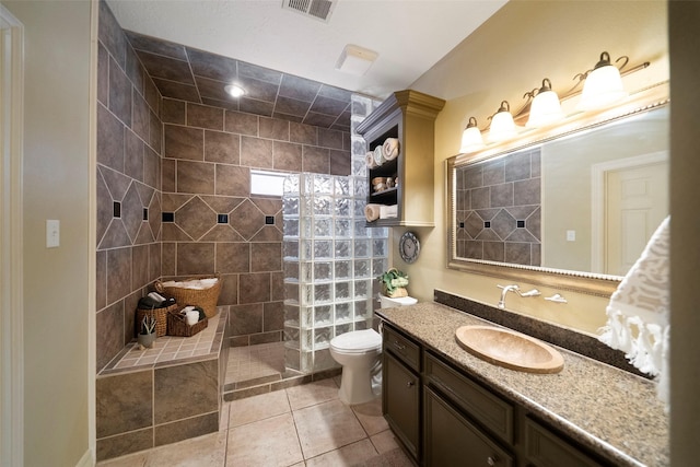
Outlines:
<svg viewBox="0 0 700 467"><path fill-rule="evenodd" d="M513 456L431 389L424 390L424 465L511 467Z"/></svg>

